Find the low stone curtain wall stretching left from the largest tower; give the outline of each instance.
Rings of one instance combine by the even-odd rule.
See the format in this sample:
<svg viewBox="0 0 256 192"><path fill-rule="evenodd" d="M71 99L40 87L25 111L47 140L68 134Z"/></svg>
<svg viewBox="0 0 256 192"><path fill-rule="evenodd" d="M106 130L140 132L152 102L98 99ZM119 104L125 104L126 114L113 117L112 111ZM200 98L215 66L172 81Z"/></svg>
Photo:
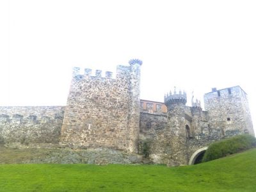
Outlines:
<svg viewBox="0 0 256 192"><path fill-rule="evenodd" d="M63 106L0 107L1 143L58 144L64 109Z"/></svg>

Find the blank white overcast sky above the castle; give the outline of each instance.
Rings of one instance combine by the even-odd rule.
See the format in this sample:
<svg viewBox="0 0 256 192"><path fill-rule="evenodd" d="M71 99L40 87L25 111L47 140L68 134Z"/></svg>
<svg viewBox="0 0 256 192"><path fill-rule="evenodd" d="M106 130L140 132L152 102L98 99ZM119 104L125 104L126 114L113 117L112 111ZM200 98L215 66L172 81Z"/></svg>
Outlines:
<svg viewBox="0 0 256 192"><path fill-rule="evenodd" d="M255 10L244 0L1 0L0 105L65 105L72 67L115 72L138 58L141 99L163 102L178 86L202 100L240 85L256 126Z"/></svg>

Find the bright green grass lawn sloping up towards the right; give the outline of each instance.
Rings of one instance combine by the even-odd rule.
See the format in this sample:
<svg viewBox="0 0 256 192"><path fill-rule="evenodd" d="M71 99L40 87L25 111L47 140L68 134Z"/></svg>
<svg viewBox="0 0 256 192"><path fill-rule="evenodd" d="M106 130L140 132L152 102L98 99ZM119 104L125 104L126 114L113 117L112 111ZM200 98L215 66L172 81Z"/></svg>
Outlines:
<svg viewBox="0 0 256 192"><path fill-rule="evenodd" d="M0 191L256 191L256 149L175 168L1 164Z"/></svg>

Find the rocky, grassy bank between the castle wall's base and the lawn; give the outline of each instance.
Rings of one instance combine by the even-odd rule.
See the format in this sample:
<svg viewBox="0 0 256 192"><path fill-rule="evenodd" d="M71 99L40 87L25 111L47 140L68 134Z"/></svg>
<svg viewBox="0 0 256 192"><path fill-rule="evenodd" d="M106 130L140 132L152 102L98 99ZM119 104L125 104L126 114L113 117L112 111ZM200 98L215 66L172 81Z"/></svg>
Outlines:
<svg viewBox="0 0 256 192"><path fill-rule="evenodd" d="M134 164L143 163L141 156L109 148L6 148L1 147L0 164L61 163L61 164ZM4 153L4 154L3 154ZM12 156L12 154L16 154ZM17 154L19 154L17 156ZM4 157L3 157L4 156Z"/></svg>

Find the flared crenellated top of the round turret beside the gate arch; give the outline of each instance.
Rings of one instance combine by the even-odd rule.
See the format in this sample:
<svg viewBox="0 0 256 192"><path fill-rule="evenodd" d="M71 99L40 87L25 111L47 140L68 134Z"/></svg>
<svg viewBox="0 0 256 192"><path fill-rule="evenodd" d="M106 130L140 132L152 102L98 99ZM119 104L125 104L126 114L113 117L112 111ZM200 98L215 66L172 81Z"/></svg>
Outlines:
<svg viewBox="0 0 256 192"><path fill-rule="evenodd" d="M173 93L172 91L170 91L170 93L164 95L164 103L166 104L166 106L178 102L186 104L187 93L185 91L182 92L181 90L179 90L179 93L177 93L176 87L174 87Z"/></svg>

